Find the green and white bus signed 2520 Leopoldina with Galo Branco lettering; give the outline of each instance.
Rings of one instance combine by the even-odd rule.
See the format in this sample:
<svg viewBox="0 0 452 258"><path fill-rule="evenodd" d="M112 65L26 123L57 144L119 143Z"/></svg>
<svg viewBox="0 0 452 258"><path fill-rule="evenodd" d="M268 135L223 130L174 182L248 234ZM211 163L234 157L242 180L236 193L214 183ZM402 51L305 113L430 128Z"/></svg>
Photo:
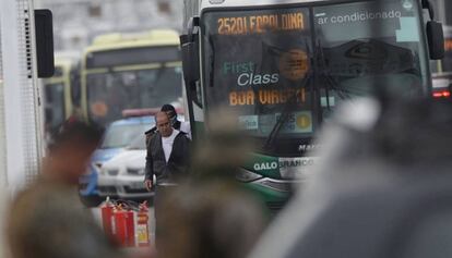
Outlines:
<svg viewBox="0 0 452 258"><path fill-rule="evenodd" d="M442 28L420 0L187 0L180 36L194 139L216 107L258 143L237 174L279 209L318 162L321 124L371 94L430 95ZM428 17L428 15L426 15ZM428 29L426 29L426 26ZM198 65L195 65L198 64Z"/></svg>

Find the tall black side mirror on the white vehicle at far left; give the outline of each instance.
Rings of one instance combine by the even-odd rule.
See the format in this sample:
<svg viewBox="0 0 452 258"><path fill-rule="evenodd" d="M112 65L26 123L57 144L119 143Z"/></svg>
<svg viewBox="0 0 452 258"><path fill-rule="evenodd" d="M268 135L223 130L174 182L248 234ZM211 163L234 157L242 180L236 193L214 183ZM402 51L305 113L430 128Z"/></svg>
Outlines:
<svg viewBox="0 0 452 258"><path fill-rule="evenodd" d="M40 78L48 78L55 73L53 24L50 10L35 10L35 30L37 74Z"/></svg>

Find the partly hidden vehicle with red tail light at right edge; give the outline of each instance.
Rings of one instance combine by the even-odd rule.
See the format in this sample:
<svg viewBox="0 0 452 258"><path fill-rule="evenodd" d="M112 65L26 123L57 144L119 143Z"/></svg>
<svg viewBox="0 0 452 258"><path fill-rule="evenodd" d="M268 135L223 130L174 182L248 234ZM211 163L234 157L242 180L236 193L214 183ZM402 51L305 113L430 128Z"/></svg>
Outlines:
<svg viewBox="0 0 452 258"><path fill-rule="evenodd" d="M432 65L433 98L450 98L452 90L452 27L444 26L444 58Z"/></svg>

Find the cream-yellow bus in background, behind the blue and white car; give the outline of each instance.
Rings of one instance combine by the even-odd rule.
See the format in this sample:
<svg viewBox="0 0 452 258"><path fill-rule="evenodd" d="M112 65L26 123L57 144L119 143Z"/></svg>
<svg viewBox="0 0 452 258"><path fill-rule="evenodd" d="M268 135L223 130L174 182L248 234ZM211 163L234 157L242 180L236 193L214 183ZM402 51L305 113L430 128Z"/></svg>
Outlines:
<svg viewBox="0 0 452 258"><path fill-rule="evenodd" d="M83 53L82 113L107 125L123 110L181 106L181 73L179 35L173 29L100 35Z"/></svg>

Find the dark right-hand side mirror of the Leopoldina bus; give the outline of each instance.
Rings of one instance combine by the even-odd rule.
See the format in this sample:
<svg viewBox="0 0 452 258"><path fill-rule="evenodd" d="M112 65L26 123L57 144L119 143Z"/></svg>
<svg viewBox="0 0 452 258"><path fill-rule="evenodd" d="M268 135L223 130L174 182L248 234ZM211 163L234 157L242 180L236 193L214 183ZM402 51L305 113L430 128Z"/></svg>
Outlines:
<svg viewBox="0 0 452 258"><path fill-rule="evenodd" d="M427 22L428 50L431 60L439 60L444 57L444 34L441 23Z"/></svg>

